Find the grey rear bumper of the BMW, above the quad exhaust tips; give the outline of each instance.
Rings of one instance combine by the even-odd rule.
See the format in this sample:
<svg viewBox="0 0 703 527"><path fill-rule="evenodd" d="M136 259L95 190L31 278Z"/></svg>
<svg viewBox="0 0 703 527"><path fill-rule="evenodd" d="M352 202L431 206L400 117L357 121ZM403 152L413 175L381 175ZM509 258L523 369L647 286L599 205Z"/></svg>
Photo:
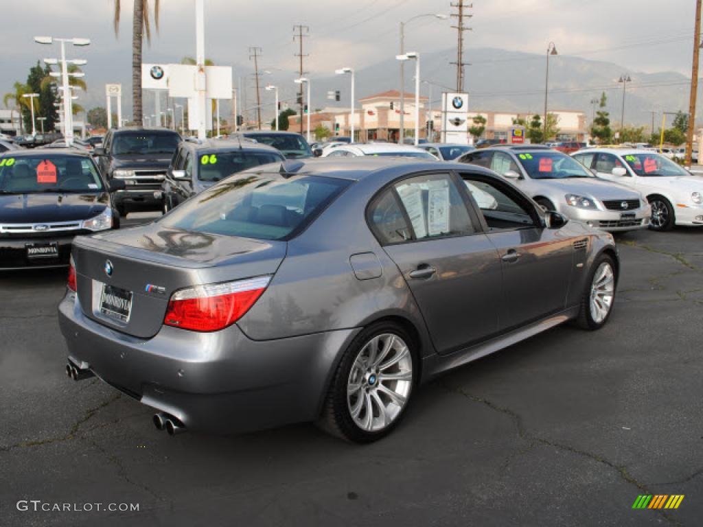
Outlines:
<svg viewBox="0 0 703 527"><path fill-rule="evenodd" d="M339 352L359 331L253 341L237 325L198 333L164 326L138 339L58 308L70 360L188 429L240 432L316 419Z"/></svg>

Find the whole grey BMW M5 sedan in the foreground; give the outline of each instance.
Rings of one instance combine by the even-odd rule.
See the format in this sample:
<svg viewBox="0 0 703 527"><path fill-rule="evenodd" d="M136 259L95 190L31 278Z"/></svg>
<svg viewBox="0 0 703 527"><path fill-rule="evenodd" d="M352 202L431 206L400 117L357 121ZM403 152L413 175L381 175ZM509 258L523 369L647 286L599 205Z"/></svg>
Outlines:
<svg viewBox="0 0 703 527"><path fill-rule="evenodd" d="M67 374L155 408L169 434L313 421L363 443L441 372L605 325L618 272L612 235L482 167L288 160L77 238L59 320Z"/></svg>

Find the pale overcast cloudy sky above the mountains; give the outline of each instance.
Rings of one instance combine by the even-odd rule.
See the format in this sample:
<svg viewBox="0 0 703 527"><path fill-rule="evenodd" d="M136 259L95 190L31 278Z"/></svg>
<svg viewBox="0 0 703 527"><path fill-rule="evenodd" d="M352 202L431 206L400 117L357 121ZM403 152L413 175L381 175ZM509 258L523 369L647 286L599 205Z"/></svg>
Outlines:
<svg viewBox="0 0 703 527"><path fill-rule="evenodd" d="M37 34L89 37L91 46L70 49L70 56L89 60L84 71L93 89L103 91L102 84L109 80L102 78L106 75L129 79L131 0L122 0L117 37L112 30L113 0L4 3L11 6L5 6L3 17L2 93L15 80L24 82L37 58L58 55L58 46L51 49L34 44L32 37ZM472 3L474 16L468 25L473 29L466 33L467 48L544 53L551 40L561 55L606 60L644 72L690 74L694 0L657 4L641 0ZM194 4L193 0L161 0L160 32L154 32L150 46L145 46L145 62L177 62L195 55ZM249 46L259 46L263 51L260 65L274 75L274 68L295 70L297 44L292 41L292 27L300 23L310 28L304 51L309 53L306 70L311 76L328 75L342 66L361 68L396 54L401 20L423 13L450 13L449 4L449 0L205 0L206 56L218 65L236 67L236 78L252 68ZM426 52L456 46L456 30L450 25L448 20L434 18L413 20L406 27L406 49ZM472 59L480 60L467 53L466 60ZM515 84L519 86L520 79L515 79Z"/></svg>

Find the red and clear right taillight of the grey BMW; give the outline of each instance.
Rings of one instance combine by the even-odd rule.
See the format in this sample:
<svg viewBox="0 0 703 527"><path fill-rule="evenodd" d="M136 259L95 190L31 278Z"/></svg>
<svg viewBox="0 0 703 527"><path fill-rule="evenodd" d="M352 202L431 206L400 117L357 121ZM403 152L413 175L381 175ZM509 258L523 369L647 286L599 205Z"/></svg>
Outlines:
<svg viewBox="0 0 703 527"><path fill-rule="evenodd" d="M192 331L221 330L242 318L270 281L270 276L257 276L176 291L169 300L164 324Z"/></svg>

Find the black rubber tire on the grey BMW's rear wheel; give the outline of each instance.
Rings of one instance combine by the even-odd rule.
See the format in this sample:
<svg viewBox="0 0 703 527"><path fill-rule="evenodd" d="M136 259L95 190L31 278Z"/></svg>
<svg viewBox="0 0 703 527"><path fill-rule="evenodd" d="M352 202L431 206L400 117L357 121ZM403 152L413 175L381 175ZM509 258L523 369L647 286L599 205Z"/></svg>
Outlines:
<svg viewBox="0 0 703 527"><path fill-rule="evenodd" d="M347 401L347 387L352 374L352 367L356 364L356 359L359 354L363 352L366 344L374 337L385 334L393 334L396 337L400 337L406 344L412 365L412 375L409 385L406 385L408 392L404 405L393 417L392 421L384 425L382 429L367 431L359 427L352 418L352 412L349 408L349 402ZM411 335L409 335L402 326L390 321L381 321L362 330L356 338L354 338L352 344L349 344L347 350L344 351L342 360L340 360L339 365L337 365L335 375L332 382L330 382L323 410L317 422L318 427L328 432L328 434L354 443L371 443L390 434L390 432L398 426L408 405L410 405L413 389L417 382L419 370L417 362L418 354L415 346L416 344ZM366 387L366 382L360 381L359 384L363 384L364 389L369 389ZM378 384L381 384L380 377ZM378 409L378 406L376 408Z"/></svg>

